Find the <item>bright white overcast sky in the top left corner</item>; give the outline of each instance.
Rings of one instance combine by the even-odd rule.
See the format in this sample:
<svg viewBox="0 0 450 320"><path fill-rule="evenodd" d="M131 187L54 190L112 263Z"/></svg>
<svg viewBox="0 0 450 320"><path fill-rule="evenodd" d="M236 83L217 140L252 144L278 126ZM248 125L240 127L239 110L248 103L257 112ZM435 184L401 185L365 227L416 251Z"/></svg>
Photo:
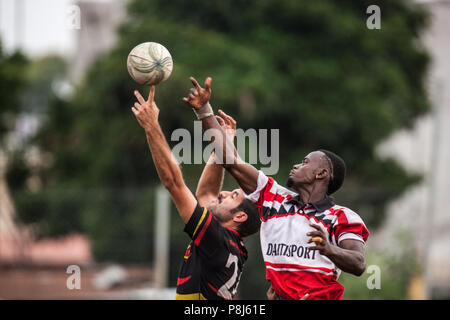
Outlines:
<svg viewBox="0 0 450 320"><path fill-rule="evenodd" d="M0 0L0 38L29 56L70 55L74 32L66 26L73 0ZM69 11L68 11L69 10Z"/></svg>

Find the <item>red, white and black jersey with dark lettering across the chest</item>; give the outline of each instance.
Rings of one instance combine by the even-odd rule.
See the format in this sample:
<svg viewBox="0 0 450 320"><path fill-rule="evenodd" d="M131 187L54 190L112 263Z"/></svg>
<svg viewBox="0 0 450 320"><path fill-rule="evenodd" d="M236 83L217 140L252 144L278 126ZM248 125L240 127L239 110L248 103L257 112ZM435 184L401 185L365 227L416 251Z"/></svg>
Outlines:
<svg viewBox="0 0 450 320"><path fill-rule="evenodd" d="M366 242L369 236L364 222L352 210L338 206L331 198L302 204L298 195L259 171L256 190L245 195L261 218L261 250L266 278L275 292L287 299L342 299L344 287L337 282L340 270L319 251L310 250L306 234L319 225L330 243L342 240Z"/></svg>

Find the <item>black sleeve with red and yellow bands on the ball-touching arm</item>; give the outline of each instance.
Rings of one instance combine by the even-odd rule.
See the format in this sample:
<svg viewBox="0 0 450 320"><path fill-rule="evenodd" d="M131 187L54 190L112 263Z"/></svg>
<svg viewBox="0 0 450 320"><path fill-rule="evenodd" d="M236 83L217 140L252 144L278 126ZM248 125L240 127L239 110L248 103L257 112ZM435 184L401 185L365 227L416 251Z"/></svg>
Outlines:
<svg viewBox="0 0 450 320"><path fill-rule="evenodd" d="M201 207L198 203L184 231L194 244L208 255L215 252L219 241L223 239L223 227L210 210Z"/></svg>

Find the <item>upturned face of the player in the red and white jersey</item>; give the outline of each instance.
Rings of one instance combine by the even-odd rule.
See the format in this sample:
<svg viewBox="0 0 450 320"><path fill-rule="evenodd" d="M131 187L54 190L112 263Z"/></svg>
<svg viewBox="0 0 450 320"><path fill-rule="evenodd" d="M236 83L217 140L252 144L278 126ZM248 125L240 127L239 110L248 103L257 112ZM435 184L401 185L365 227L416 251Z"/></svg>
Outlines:
<svg viewBox="0 0 450 320"><path fill-rule="evenodd" d="M292 167L289 173L287 186L294 187L302 184L311 184L316 179L316 173L323 167L323 154L313 151L303 158L302 162Z"/></svg>

